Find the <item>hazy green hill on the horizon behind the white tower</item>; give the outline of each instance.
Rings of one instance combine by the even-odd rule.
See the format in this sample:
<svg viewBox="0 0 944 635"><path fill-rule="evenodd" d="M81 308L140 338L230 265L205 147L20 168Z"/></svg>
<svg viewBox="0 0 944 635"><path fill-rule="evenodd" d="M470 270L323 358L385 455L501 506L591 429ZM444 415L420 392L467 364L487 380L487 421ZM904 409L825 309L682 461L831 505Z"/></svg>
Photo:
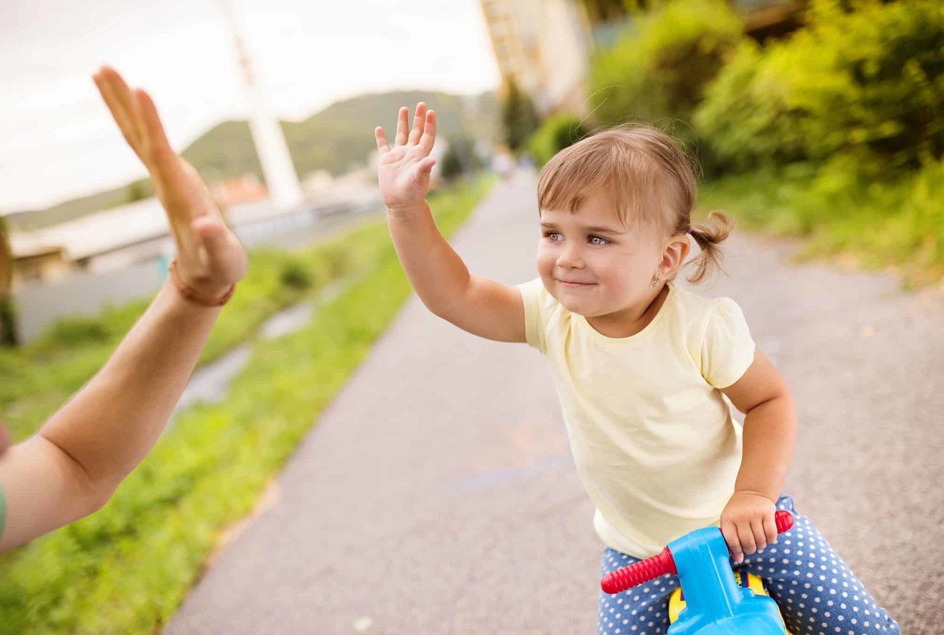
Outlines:
<svg viewBox="0 0 944 635"><path fill-rule="evenodd" d="M304 179L314 170L328 170L336 176L352 165L363 163L376 147L374 128L383 126L387 138L393 141L397 110L400 106L412 110L420 100L436 111L437 136L440 138L472 137L497 141L498 106L492 93L456 95L395 91L362 94L335 102L303 121L281 122L299 179ZM252 172L264 181L249 124L245 121L227 121L214 126L188 146L183 156L209 182L238 177L246 172ZM12 231L38 230L151 197L153 193L150 180L136 180L44 210L15 212L7 215L6 220Z"/></svg>

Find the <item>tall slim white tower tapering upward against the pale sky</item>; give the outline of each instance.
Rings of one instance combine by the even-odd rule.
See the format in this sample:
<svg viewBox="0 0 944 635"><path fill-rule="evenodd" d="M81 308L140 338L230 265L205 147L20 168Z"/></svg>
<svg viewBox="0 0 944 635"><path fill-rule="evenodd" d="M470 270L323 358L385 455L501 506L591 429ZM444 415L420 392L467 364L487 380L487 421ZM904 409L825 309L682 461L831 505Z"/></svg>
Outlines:
<svg viewBox="0 0 944 635"><path fill-rule="evenodd" d="M256 144L256 153L262 165L262 174L265 175L265 184L269 188L269 197L279 208L288 208L301 202L301 186L295 174L295 165L292 155L285 143L282 129L278 120L271 116L265 107L261 88L256 80L252 68L252 60L246 50L242 29L236 19L231 0L221 0L223 12L226 14L229 29L236 44L236 57L239 60L240 70L246 93L249 96L249 129Z"/></svg>

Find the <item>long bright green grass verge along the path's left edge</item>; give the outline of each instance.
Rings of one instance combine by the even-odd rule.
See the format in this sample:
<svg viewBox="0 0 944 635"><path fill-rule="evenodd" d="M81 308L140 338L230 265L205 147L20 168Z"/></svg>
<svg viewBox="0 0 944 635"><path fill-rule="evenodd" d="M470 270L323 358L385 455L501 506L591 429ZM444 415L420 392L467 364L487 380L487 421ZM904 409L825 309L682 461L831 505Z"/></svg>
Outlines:
<svg viewBox="0 0 944 635"><path fill-rule="evenodd" d="M435 197L440 228L458 227L486 189ZM251 509L409 295L389 240L372 260L307 328L257 346L225 403L181 416L102 511L0 561L0 633L153 633L174 613L219 532Z"/></svg>

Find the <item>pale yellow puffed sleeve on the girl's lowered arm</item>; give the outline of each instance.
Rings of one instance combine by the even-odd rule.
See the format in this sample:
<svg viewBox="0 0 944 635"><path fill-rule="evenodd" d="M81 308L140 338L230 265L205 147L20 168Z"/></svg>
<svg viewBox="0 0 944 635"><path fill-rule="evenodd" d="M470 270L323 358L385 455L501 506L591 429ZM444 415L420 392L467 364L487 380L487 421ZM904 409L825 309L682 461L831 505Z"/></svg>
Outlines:
<svg viewBox="0 0 944 635"><path fill-rule="evenodd" d="M718 389L739 380L754 361L754 340L741 307L719 298L708 316L701 344L701 376Z"/></svg>

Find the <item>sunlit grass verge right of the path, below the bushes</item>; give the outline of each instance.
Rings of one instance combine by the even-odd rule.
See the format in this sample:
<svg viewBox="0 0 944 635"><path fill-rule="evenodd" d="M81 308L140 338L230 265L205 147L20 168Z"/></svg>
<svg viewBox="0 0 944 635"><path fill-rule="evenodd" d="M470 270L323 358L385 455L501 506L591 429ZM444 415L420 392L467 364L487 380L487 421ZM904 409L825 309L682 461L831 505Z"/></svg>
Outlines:
<svg viewBox="0 0 944 635"><path fill-rule="evenodd" d="M800 236L801 257L892 268L906 287L944 278L944 163L865 181L854 167L794 166L707 183L702 209L730 211L747 229Z"/></svg>

